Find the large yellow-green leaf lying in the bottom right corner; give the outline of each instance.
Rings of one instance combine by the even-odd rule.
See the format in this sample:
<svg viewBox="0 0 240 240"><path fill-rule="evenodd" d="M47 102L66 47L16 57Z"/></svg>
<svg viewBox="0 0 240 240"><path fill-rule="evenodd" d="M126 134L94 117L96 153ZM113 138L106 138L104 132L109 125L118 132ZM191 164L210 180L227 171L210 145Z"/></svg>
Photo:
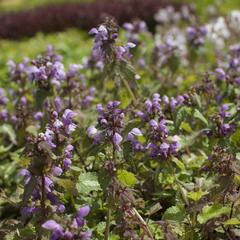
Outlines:
<svg viewBox="0 0 240 240"><path fill-rule="evenodd" d="M223 214L227 214L231 211L230 207L223 206L221 204L207 205L202 209L202 212L198 215L197 219L199 223L204 224L207 221L218 218Z"/></svg>

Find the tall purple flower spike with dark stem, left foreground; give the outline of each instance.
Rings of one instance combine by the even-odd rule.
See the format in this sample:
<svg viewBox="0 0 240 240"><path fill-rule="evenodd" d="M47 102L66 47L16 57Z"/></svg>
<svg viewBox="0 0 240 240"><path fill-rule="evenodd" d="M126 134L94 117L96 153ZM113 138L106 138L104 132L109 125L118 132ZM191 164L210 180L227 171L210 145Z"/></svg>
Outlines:
<svg viewBox="0 0 240 240"><path fill-rule="evenodd" d="M65 210L58 198L61 193L54 190L53 177L60 177L71 166L74 148L68 142L71 140L69 134L76 128L72 122L74 116L73 111L66 109L59 119L58 113L54 111L45 132L28 140L29 148L26 154L32 158L32 163L29 169L20 171L20 175L25 179L25 193L28 192L24 204L29 202L29 205L22 209L24 218L38 214L39 209L46 211L46 201L51 204L48 207L51 212L63 213ZM57 155L61 151L61 155Z"/></svg>

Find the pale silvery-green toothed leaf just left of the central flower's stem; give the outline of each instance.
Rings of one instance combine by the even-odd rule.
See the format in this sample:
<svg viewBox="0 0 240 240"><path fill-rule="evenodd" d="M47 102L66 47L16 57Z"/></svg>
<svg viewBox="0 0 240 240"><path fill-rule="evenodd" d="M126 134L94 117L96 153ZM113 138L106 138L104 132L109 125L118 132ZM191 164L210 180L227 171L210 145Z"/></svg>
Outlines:
<svg viewBox="0 0 240 240"><path fill-rule="evenodd" d="M91 191L101 190L97 174L95 172L80 174L76 188L81 194L89 194Z"/></svg>

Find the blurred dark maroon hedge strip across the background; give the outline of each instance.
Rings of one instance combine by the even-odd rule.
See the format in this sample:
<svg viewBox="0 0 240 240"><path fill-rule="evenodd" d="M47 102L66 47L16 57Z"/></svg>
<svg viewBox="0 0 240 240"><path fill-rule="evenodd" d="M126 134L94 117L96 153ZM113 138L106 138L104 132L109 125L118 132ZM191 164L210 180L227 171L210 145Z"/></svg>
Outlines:
<svg viewBox="0 0 240 240"><path fill-rule="evenodd" d="M0 15L0 38L20 39L37 32L63 31L71 27L89 30L106 15L114 16L119 24L141 18L153 29L154 13L167 5L167 0L97 0L93 3L65 3L4 13Z"/></svg>

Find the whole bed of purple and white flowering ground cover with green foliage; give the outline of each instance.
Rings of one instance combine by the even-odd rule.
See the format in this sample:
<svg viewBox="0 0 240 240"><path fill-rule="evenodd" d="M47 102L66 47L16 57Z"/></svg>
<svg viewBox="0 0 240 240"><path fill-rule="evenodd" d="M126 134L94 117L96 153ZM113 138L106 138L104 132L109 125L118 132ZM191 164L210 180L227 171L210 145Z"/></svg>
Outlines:
<svg viewBox="0 0 240 240"><path fill-rule="evenodd" d="M9 59L0 239L240 238L240 12L209 14L106 18L77 64Z"/></svg>

